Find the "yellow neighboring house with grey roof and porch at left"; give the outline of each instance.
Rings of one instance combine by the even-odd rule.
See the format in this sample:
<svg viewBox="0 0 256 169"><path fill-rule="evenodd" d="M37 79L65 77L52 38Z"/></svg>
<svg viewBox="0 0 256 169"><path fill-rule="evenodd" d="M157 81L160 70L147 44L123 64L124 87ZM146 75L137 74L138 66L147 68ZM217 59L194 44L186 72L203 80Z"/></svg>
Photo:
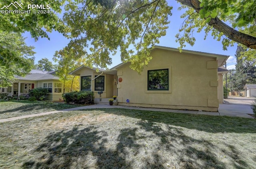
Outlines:
<svg viewBox="0 0 256 169"><path fill-rule="evenodd" d="M54 76L55 71L32 70L26 77L15 76L17 79L12 86L0 88L0 93L8 93L8 96L29 96L33 88L48 88L46 100L62 99L63 86L59 78Z"/></svg>

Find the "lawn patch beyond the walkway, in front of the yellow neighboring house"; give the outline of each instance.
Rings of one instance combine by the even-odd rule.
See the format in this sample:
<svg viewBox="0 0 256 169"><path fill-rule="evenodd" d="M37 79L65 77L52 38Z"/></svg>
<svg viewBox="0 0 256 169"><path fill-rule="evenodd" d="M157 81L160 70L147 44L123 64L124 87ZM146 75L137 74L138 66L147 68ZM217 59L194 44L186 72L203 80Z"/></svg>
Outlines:
<svg viewBox="0 0 256 169"><path fill-rule="evenodd" d="M74 107L78 106L51 101L30 102L26 100L20 100L0 102L0 119L24 116L28 114L50 112L54 110L62 110Z"/></svg>

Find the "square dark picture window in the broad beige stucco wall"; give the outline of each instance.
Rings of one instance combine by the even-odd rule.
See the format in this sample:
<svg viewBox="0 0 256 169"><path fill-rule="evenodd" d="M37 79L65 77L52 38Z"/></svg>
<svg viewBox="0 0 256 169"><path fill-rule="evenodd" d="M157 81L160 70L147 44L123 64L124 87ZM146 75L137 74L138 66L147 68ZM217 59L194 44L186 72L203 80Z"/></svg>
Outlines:
<svg viewBox="0 0 256 169"><path fill-rule="evenodd" d="M169 69L148 71L148 90L169 90Z"/></svg>

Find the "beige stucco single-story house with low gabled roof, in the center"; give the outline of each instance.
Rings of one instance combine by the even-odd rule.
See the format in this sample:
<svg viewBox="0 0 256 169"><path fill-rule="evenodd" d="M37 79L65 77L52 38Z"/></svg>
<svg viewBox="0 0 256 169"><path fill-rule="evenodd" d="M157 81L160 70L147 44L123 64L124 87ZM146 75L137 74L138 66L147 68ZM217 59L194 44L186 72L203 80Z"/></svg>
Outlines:
<svg viewBox="0 0 256 169"><path fill-rule="evenodd" d="M80 76L80 90L102 91L102 98L117 96L118 105L151 108L204 110L216 112L223 102L222 76L218 71L226 55L155 46L152 60L138 74L130 63L110 70L90 69L84 65L70 75Z"/></svg>

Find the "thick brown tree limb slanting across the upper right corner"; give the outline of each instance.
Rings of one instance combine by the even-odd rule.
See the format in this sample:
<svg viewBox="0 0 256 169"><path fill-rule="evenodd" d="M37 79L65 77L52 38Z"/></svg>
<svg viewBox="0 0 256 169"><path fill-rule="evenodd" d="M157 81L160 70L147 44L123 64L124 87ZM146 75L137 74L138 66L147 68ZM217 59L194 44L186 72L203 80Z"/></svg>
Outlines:
<svg viewBox="0 0 256 169"><path fill-rule="evenodd" d="M199 0L177 0L178 2L189 6L191 8L194 8L197 13L199 13L200 9L200 1ZM211 25L214 29L217 29L218 31L224 33L226 37L229 39L236 41L238 43L241 43L249 48L256 49L256 37L247 35L245 33L242 33L240 31L237 31L224 22L222 22L219 18L212 18L210 22L208 23Z"/></svg>

